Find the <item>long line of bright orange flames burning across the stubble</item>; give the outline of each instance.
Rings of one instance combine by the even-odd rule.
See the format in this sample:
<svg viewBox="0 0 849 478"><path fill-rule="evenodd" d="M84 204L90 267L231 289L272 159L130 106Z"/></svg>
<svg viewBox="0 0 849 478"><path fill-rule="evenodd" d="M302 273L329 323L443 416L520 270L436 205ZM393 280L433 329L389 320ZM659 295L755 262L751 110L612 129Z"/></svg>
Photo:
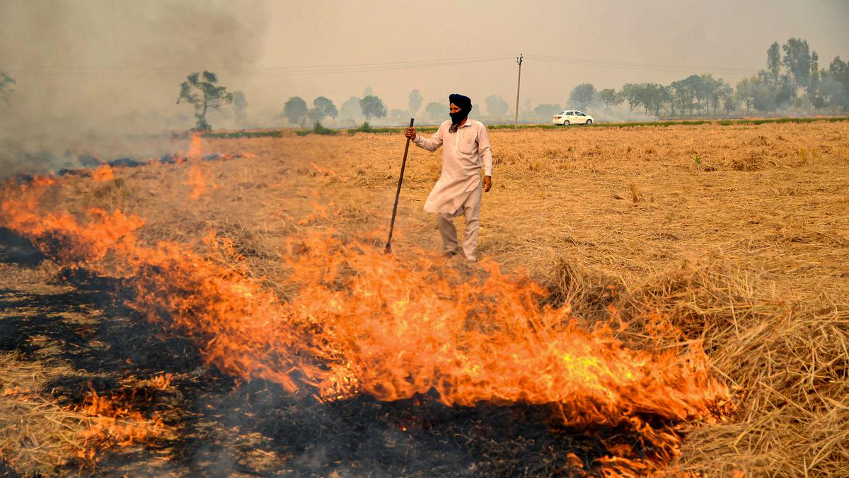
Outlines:
<svg viewBox="0 0 849 478"><path fill-rule="evenodd" d="M697 344L629 349L609 325L588 330L568 307L541 305L542 287L494 263L469 281L426 253L402 264L374 242L317 232L290 242L288 281L298 292L281 301L233 260L226 240L205 238L217 256L146 246L135 236L143 220L121 211L42 211L44 187L5 194L0 225L60 261L123 277L137 291L133 308L194 338L223 373L322 401L436 390L448 406L548 404L562 424L633 430L659 458L678 453L673 424L709 418L728 398Z"/></svg>

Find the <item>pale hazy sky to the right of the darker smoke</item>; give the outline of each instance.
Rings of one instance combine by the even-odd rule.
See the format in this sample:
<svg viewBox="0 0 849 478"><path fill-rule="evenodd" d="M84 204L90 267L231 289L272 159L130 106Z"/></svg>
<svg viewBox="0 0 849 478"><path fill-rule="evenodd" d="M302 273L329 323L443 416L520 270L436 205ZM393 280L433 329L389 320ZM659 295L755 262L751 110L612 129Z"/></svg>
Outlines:
<svg viewBox="0 0 849 478"><path fill-rule="evenodd" d="M284 95L332 98L360 95L371 86L391 105L411 88L425 102L467 92L482 103L502 94L512 103L514 57L545 55L611 62L616 67L542 62L522 65L522 98L563 103L578 83L619 88L628 82L669 83L690 73L715 71L730 83L766 64L770 43L807 39L821 64L849 57L849 2L332 2L273 3L270 28L255 77L258 89ZM485 63L398 71L282 75L274 68L379 64L506 55ZM679 71L638 65L692 65ZM697 68L698 67L698 68ZM707 68L712 67L712 68ZM743 70L740 70L743 69ZM272 76L275 75L275 76Z"/></svg>

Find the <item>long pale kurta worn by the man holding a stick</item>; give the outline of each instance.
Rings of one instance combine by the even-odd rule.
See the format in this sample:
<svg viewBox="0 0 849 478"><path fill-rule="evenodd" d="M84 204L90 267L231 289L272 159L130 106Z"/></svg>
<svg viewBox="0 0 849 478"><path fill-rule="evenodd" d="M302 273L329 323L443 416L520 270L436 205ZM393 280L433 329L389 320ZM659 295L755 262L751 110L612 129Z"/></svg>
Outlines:
<svg viewBox="0 0 849 478"><path fill-rule="evenodd" d="M442 147L442 174L424 210L429 213L455 213L469 195L481 191L481 166L484 176L492 176L492 147L486 126L467 118L465 124L451 133L451 121L443 122L428 139L417 135L413 141L419 148L436 151Z"/></svg>

